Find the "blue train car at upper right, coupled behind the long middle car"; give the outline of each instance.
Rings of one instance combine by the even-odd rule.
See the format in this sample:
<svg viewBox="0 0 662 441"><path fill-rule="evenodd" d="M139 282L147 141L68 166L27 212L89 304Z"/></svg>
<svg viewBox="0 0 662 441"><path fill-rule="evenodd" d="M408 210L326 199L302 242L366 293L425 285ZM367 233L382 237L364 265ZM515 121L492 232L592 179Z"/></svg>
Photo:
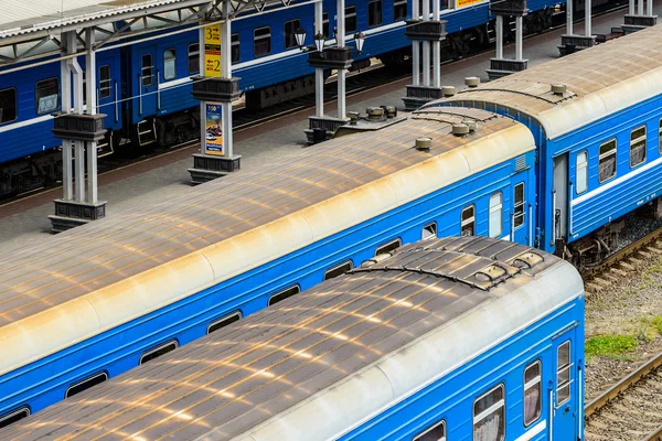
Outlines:
<svg viewBox="0 0 662 441"><path fill-rule="evenodd" d="M427 108L479 107L526 125L537 144L535 243L590 265L617 247L623 215L649 206L661 217L660 67L634 60L655 58L661 36L651 28Z"/></svg>

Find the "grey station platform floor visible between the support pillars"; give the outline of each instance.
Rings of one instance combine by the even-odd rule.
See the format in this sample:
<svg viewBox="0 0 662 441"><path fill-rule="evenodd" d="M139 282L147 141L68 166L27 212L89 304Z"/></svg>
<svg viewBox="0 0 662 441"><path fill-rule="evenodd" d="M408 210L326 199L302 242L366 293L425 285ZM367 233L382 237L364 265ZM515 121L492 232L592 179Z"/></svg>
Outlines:
<svg viewBox="0 0 662 441"><path fill-rule="evenodd" d="M660 9L660 11L658 11ZM655 13L662 8L655 8ZM594 18L596 33L609 33L612 26L623 23L623 11L616 11ZM577 29L581 24L575 24ZM558 42L565 28L524 40L524 55L530 65L536 65L558 56ZM505 47L505 54L514 52L513 46ZM441 67L441 84L465 88L465 78L479 76L487 82L485 68L493 52L476 55L446 64ZM402 97L410 78L404 78L361 94L348 97L348 110L365 112L369 106L396 106L404 108ZM333 114L335 101L327 103L325 110ZM303 129L308 127L308 117L314 109L305 109L278 118L250 129L235 131L235 154L242 155L242 173L257 164L288 161L296 155L314 154L314 146L306 147ZM103 173L98 178L99 198L107 201L106 217L134 206L150 204L156 200L177 197L191 189L188 169L192 165L192 154L197 147L174 150L157 158ZM223 178L221 178L223 179ZM202 184L204 186L204 184ZM22 249L39 244L51 236L53 200L62 195L62 189L53 189L0 207L0 254L21 252Z"/></svg>

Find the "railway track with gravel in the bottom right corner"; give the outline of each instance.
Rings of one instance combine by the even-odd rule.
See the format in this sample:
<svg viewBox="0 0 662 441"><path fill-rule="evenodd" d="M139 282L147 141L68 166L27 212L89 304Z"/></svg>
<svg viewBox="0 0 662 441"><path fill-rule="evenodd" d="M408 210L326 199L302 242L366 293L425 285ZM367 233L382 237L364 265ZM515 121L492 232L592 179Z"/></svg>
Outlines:
<svg viewBox="0 0 662 441"><path fill-rule="evenodd" d="M662 440L662 353L584 408L589 441Z"/></svg>

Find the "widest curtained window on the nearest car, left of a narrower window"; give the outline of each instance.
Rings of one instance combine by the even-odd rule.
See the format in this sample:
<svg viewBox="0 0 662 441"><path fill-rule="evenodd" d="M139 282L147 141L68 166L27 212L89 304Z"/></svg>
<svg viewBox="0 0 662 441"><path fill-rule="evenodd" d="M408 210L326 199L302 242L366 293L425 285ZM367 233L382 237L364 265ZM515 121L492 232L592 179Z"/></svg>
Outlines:
<svg viewBox="0 0 662 441"><path fill-rule="evenodd" d="M505 439L504 387L499 385L473 401L473 439L501 441Z"/></svg>

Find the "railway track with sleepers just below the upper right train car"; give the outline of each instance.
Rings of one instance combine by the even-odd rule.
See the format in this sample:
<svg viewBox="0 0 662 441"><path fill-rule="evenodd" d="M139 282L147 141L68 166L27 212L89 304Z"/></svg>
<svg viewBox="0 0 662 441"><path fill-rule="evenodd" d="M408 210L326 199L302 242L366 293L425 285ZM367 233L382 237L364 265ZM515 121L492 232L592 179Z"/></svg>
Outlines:
<svg viewBox="0 0 662 441"><path fill-rule="evenodd" d="M662 228L621 248L602 262L581 271L587 295L597 294L653 256L662 256Z"/></svg>

